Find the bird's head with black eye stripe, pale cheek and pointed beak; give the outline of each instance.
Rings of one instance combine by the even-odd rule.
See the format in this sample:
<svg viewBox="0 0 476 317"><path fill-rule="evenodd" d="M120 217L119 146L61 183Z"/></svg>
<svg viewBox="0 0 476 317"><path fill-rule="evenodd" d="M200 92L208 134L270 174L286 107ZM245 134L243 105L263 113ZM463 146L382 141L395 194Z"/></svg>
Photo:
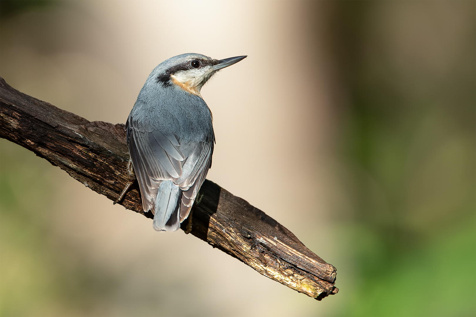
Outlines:
<svg viewBox="0 0 476 317"><path fill-rule="evenodd" d="M200 96L200 89L218 70L238 63L246 56L213 59L201 54L182 54L159 64L149 79L163 86L178 86L190 94Z"/></svg>

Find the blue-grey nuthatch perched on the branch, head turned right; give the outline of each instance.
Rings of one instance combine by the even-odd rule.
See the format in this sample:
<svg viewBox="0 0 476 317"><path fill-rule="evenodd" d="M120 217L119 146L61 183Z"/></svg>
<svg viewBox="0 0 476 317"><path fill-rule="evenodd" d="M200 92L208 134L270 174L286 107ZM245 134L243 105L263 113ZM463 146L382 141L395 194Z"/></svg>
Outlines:
<svg viewBox="0 0 476 317"><path fill-rule="evenodd" d="M155 67L140 90L125 130L142 208L154 215L156 231L180 228L211 167L213 118L200 89L246 57L181 54Z"/></svg>

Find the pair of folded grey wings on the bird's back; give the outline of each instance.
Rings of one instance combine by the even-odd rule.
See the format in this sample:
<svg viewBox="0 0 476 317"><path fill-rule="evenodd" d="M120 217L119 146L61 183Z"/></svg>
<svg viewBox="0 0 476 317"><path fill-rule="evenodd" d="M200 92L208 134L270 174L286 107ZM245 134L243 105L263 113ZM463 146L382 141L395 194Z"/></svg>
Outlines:
<svg viewBox="0 0 476 317"><path fill-rule="evenodd" d="M158 130L140 131L126 124L129 154L142 196L144 211L152 211L159 184L171 180L182 191L180 222L190 211L198 190L211 166L215 135L203 142L179 142L173 134L165 136Z"/></svg>

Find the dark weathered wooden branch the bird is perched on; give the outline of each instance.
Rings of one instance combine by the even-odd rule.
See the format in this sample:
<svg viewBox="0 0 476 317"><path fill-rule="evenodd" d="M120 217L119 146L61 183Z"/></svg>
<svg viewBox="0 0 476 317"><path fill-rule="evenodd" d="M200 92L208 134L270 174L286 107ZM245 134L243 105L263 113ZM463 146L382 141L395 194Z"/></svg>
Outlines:
<svg viewBox="0 0 476 317"><path fill-rule="evenodd" d="M89 122L15 90L1 77L0 93L2 138L20 144L93 191L116 200L128 182L124 125ZM263 211L208 180L200 196L192 208L191 234L307 296L320 300L337 293L336 269ZM152 217L150 212L142 211L137 181L119 203ZM187 230L187 223L182 223L182 230Z"/></svg>

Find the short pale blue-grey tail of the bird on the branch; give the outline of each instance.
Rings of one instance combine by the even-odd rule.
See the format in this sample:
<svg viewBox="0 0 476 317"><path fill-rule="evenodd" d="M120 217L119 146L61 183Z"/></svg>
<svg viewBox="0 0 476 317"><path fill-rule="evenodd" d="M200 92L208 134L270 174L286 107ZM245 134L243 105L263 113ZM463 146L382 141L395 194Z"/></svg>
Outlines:
<svg viewBox="0 0 476 317"><path fill-rule="evenodd" d="M154 229L157 231L176 231L180 228L180 202L182 190L172 181L159 185L155 198Z"/></svg>

